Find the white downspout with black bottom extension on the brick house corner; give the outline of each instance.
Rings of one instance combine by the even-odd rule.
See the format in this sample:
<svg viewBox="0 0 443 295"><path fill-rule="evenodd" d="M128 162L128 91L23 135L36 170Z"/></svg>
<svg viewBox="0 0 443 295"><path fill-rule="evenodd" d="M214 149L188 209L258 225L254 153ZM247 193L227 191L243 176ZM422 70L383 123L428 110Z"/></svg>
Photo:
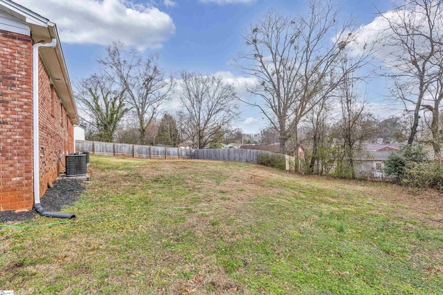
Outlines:
<svg viewBox="0 0 443 295"><path fill-rule="evenodd" d="M42 216L57 218L75 218L73 214L47 212L40 204L40 152L39 152L39 48L54 48L57 39L52 39L51 43L36 43L33 46L33 169L34 169L34 207L35 211Z"/></svg>

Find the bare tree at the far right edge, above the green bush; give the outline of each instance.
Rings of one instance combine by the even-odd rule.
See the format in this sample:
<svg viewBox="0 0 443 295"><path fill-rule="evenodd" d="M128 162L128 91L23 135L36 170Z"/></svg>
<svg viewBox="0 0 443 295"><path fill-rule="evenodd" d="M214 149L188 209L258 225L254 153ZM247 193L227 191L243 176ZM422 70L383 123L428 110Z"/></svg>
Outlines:
<svg viewBox="0 0 443 295"><path fill-rule="evenodd" d="M413 113L408 144L414 142L426 91L440 72L435 61L443 45L442 3L397 1L393 10L381 14L389 25L383 42L391 48L391 53L384 57L389 63L388 76L394 80L393 91L405 110Z"/></svg>

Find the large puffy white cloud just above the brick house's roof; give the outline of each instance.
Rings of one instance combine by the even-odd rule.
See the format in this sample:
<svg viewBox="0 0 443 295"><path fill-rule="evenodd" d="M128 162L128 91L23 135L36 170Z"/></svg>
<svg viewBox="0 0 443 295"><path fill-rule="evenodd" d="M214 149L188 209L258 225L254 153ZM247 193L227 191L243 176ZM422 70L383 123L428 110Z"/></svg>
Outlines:
<svg viewBox="0 0 443 295"><path fill-rule="evenodd" d="M55 22L60 39L71 44L109 45L120 40L145 50L161 47L175 31L165 12L127 0L15 1Z"/></svg>

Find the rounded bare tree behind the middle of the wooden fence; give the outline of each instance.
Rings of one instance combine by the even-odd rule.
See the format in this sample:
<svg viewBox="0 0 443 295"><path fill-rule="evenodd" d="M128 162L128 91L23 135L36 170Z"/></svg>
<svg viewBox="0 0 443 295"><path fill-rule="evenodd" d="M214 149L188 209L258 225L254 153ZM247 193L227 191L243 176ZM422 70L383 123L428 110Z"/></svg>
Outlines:
<svg viewBox="0 0 443 295"><path fill-rule="evenodd" d="M222 131L237 118L237 95L232 85L197 73L181 73L181 130L198 149L219 143Z"/></svg>

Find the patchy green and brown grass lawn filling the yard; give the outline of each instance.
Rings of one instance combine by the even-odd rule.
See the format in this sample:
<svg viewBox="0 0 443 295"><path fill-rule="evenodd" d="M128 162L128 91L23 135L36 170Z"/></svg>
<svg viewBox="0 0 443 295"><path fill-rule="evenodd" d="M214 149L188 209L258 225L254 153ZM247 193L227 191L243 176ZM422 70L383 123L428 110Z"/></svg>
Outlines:
<svg viewBox="0 0 443 295"><path fill-rule="evenodd" d="M77 220L0 231L0 289L443 294L437 193L231 162L91 156L89 173Z"/></svg>

